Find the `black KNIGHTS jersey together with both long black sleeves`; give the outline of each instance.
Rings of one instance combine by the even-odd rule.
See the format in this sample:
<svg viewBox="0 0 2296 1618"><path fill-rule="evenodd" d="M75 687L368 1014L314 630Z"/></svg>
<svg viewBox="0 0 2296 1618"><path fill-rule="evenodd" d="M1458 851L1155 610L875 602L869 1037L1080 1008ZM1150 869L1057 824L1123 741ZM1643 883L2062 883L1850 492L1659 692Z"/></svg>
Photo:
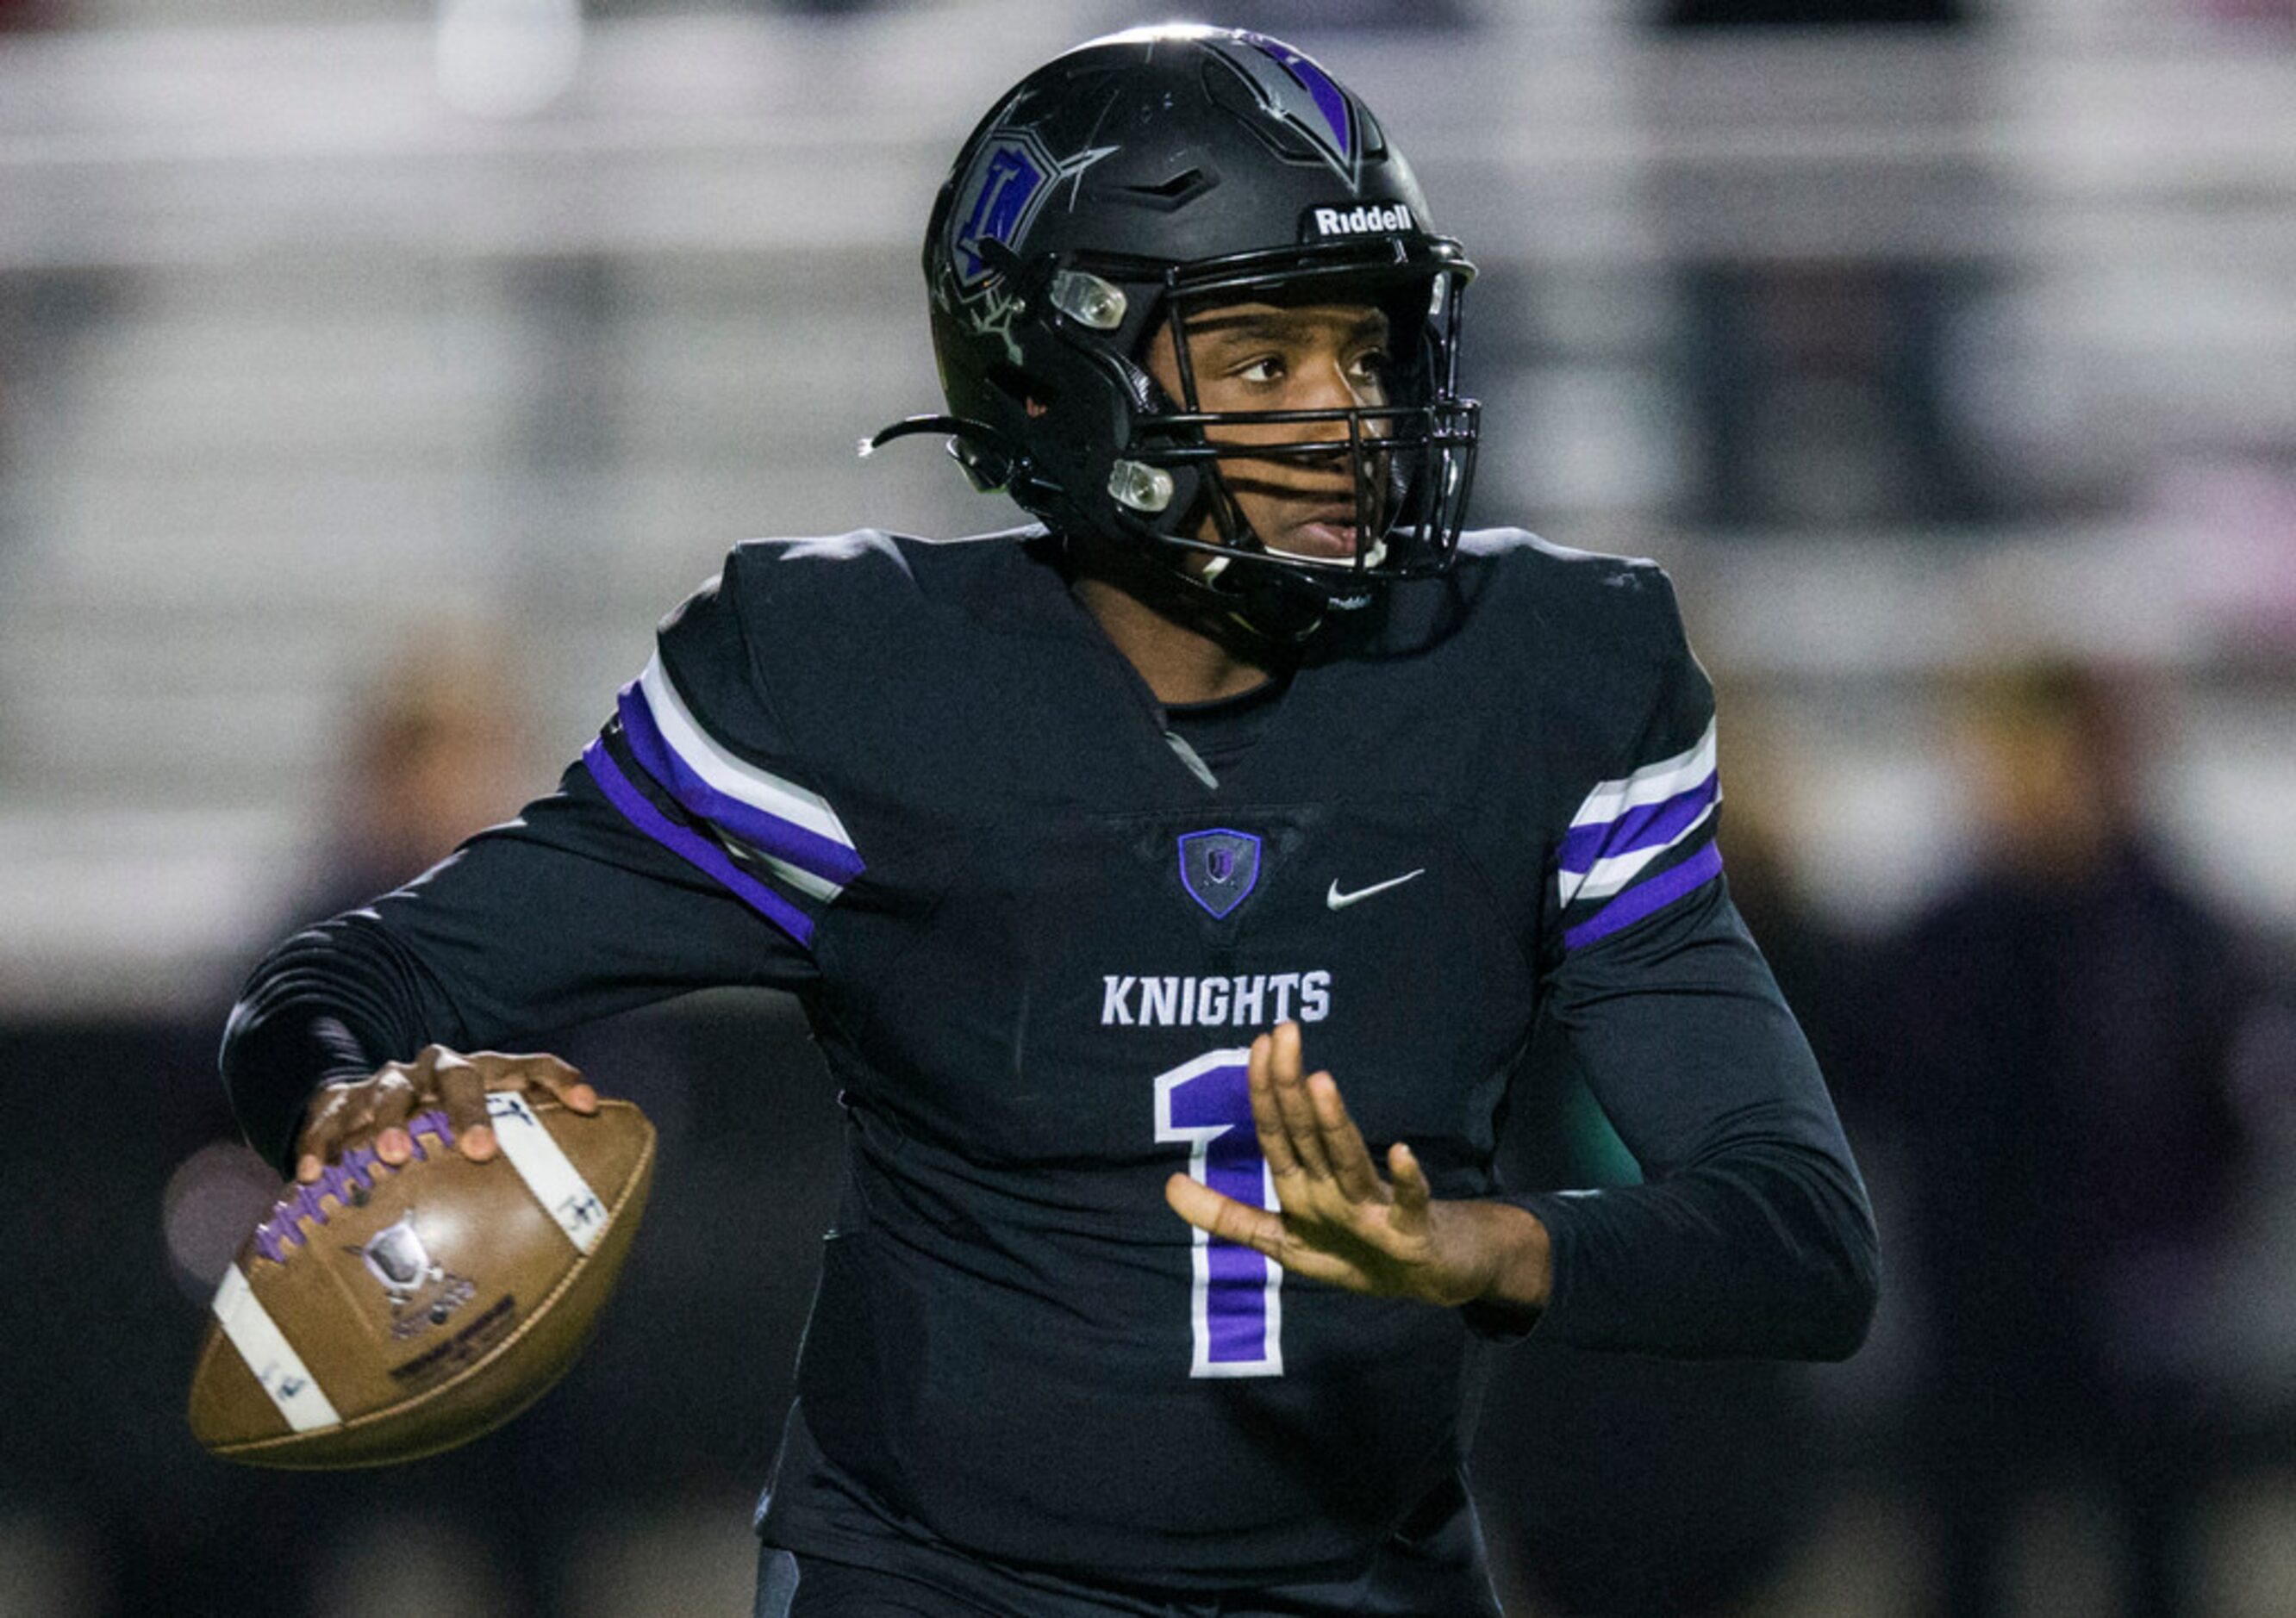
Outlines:
<svg viewBox="0 0 2296 1618"><path fill-rule="evenodd" d="M1862 1189L1717 879L1713 700L1658 567L1469 535L1242 741L1201 721L1031 532L739 546L556 799L259 973L241 1088L347 955L388 971L335 991L356 1056L305 1083L794 989L852 1145L810 1444L957 1547L1166 1588L1362 1563L1458 1467L1469 1327L1529 1324L1302 1283L1169 1212L1173 1170L1274 1205L1244 1049L1277 1021L1446 1198L1499 1193L1508 1086L1561 1030L1649 1184L1520 1198L1543 1331L1855 1340ZM847 1501L810 1487L785 1469L769 1533L836 1554Z"/></svg>

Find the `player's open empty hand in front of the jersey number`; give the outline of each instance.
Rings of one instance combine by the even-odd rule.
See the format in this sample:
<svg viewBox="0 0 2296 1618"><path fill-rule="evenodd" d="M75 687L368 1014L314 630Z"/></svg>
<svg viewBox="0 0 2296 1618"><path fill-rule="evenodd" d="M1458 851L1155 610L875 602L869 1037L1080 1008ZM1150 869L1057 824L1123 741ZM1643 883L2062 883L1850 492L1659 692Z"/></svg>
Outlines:
<svg viewBox="0 0 2296 1618"><path fill-rule="evenodd" d="M1545 1226L1511 1203L1437 1200L1403 1141L1387 1148L1382 1177L1332 1074L1302 1076L1297 1024L1251 1042L1249 1081L1281 1212L1176 1173L1164 1200L1180 1219L1350 1292L1545 1304Z"/></svg>

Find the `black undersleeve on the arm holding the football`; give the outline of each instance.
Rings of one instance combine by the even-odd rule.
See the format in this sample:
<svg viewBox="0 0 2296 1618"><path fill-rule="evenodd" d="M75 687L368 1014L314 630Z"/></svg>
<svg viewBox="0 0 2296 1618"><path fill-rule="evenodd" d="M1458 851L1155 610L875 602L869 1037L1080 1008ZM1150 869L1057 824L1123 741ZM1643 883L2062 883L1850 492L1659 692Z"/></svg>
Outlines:
<svg viewBox="0 0 2296 1618"><path fill-rule="evenodd" d="M232 1010L223 1083L248 1141L285 1166L315 1086L425 1044L517 1044L689 989L810 978L804 946L643 835L576 764L416 884L273 950Z"/></svg>

